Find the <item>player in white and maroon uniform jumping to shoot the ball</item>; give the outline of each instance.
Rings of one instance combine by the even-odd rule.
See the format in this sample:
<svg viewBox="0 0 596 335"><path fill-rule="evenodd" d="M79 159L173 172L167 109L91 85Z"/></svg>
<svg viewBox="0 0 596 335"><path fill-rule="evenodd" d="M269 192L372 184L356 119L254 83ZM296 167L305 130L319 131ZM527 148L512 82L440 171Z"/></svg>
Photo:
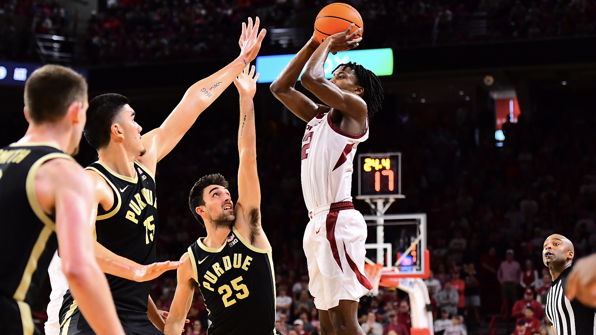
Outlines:
<svg viewBox="0 0 596 335"><path fill-rule="evenodd" d="M356 311L361 296L373 289L364 275L367 225L352 204L352 161L356 146L368 138L368 116L383 102L380 80L355 63L340 64L325 79L329 52L355 48L361 29L329 36L319 45L315 35L271 84L289 110L308 122L302 142L302 192L311 221L303 239L309 290L319 309L321 334L364 334ZM302 85L324 104L294 88Z"/></svg>

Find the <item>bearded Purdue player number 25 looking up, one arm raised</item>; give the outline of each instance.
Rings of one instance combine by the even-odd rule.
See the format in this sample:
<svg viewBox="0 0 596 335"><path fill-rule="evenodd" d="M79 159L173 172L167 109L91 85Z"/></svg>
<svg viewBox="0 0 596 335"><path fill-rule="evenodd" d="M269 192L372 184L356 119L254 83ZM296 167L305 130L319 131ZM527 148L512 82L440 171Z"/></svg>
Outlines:
<svg viewBox="0 0 596 335"><path fill-rule="evenodd" d="M203 176L189 197L193 215L207 230L188 248L178 269L178 286L166 335L179 335L184 318L200 289L212 322L209 335L266 335L275 328L275 281L271 244L260 221L253 96L254 66L234 80L240 93L238 128L238 201L229 195L228 181L219 173Z"/></svg>

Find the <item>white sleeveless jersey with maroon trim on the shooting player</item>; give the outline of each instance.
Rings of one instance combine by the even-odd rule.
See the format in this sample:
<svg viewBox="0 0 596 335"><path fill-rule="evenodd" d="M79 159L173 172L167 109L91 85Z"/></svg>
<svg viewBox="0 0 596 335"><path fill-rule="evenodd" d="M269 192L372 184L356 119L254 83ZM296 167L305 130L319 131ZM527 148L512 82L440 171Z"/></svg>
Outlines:
<svg viewBox="0 0 596 335"><path fill-rule="evenodd" d="M310 211L325 204L352 201L352 162L360 135L341 131L331 122L331 113L317 114L302 138L302 193Z"/></svg>

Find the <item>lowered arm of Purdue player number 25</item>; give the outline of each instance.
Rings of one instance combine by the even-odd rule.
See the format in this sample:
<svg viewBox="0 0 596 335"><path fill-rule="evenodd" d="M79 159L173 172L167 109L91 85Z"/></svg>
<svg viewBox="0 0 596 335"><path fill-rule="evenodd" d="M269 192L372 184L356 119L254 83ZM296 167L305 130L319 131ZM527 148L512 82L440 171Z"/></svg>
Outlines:
<svg viewBox="0 0 596 335"><path fill-rule="evenodd" d="M176 293L174 293L170 313L167 315L166 326L163 329L166 335L180 335L184 331L184 321L188 309L193 303L195 287L198 286L188 252L182 255L180 260L184 262L184 265L178 268Z"/></svg>

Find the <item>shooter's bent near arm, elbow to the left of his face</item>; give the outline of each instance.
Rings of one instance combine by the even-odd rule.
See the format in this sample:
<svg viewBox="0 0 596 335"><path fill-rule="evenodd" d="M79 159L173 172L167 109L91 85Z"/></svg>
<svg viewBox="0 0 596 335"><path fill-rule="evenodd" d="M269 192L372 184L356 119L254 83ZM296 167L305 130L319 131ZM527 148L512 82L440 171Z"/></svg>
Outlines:
<svg viewBox="0 0 596 335"><path fill-rule="evenodd" d="M362 115L362 109L365 112L367 111L367 104L357 94L340 89L325 78L324 70L325 60L327 60L329 52L342 51L358 46L358 42L362 38L352 38L361 33L361 29L357 29L350 34L352 27L353 24L345 32L329 36L316 49L302 75L302 85L327 104L327 106L342 111L343 114L347 114L348 116L359 117Z"/></svg>

